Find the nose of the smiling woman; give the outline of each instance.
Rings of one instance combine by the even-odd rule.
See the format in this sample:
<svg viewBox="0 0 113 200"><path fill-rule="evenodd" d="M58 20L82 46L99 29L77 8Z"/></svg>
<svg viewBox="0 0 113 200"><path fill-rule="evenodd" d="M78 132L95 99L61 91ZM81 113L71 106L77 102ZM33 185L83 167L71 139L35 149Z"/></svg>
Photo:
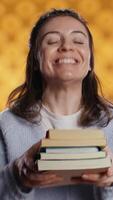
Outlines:
<svg viewBox="0 0 113 200"><path fill-rule="evenodd" d="M61 41L61 44L60 44L60 47L59 47L60 52L62 52L62 51L73 51L73 50L74 50L74 47L73 47L73 45L71 44L70 41L67 41L67 40Z"/></svg>

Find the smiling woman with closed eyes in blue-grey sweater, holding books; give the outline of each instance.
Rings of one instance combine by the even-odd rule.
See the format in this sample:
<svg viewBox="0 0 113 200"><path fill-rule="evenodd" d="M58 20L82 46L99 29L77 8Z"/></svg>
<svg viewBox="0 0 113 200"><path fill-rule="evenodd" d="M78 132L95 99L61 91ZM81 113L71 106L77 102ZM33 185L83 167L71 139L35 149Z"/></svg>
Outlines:
<svg viewBox="0 0 113 200"><path fill-rule="evenodd" d="M112 199L113 166L105 174L73 177L73 186L62 187L52 184L63 177L40 173L35 166L40 141L50 128L101 128L112 158L112 106L98 94L92 36L77 13L54 9L37 21L25 82L10 94L8 105L0 116L2 200Z"/></svg>

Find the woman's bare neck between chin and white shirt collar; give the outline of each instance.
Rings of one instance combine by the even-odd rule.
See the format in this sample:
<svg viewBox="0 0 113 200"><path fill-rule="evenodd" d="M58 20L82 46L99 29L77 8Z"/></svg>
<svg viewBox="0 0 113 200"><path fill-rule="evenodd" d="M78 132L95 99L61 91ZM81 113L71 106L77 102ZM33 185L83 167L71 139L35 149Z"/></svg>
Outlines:
<svg viewBox="0 0 113 200"><path fill-rule="evenodd" d="M59 115L71 115L81 107L81 84L71 87L49 84L43 95L43 104L48 110Z"/></svg>

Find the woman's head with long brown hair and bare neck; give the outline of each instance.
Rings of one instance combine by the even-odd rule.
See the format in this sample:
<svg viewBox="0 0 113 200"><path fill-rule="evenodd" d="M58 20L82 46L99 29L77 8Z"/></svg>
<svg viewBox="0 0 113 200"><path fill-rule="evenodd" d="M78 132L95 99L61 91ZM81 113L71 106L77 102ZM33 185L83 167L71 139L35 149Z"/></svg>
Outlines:
<svg viewBox="0 0 113 200"><path fill-rule="evenodd" d="M59 42L50 44L50 39L51 41L53 39L50 37L53 35ZM61 65L58 61L59 58L73 57L76 67L75 64L68 64L67 67L67 64ZM64 61L60 60L60 62ZM76 84L73 81L76 81ZM70 89L65 92L67 86L70 86ZM26 80L10 94L8 105L13 113L29 121L35 121L37 114L40 115L42 103L47 107L51 106L56 114L57 112L71 114L81 108L82 114L78 120L80 125L87 126L98 122L101 117L100 123L104 126L110 121L111 114L105 100L98 95L98 87L99 81L94 72L93 38L85 20L72 10L54 10L41 16L33 27L26 64ZM76 95L73 91L76 91ZM47 99L50 98L52 101L54 95L60 97L58 97L58 105L57 102L49 103L50 100L47 103ZM73 96L71 102L70 96ZM45 99L46 103L44 103ZM69 108L69 112L68 105L66 108L62 107L62 99L67 101L69 99L67 104L72 107ZM106 117L102 116L101 112L104 112Z"/></svg>

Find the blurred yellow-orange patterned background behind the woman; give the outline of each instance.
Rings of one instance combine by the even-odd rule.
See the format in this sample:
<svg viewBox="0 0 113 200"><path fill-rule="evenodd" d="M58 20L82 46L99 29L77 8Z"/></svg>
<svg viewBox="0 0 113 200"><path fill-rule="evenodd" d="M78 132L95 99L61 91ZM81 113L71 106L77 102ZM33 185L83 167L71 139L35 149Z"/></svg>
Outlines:
<svg viewBox="0 0 113 200"><path fill-rule="evenodd" d="M113 0L0 0L0 110L24 80L30 31L50 8L73 8L88 21L95 71L105 97L113 102Z"/></svg>

